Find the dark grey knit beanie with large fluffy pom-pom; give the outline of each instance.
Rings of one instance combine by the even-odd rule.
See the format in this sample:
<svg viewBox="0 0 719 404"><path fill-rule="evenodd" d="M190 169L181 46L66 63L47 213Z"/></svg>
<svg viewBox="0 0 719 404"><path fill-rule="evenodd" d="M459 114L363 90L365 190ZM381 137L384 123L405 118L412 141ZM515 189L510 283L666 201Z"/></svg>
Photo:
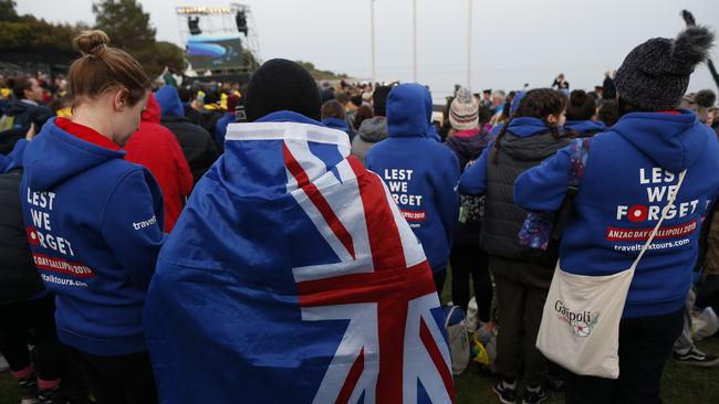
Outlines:
<svg viewBox="0 0 719 404"><path fill-rule="evenodd" d="M652 39L622 63L614 83L619 97L643 110L675 109L689 86L689 75L707 59L713 33L691 26L676 40Z"/></svg>

